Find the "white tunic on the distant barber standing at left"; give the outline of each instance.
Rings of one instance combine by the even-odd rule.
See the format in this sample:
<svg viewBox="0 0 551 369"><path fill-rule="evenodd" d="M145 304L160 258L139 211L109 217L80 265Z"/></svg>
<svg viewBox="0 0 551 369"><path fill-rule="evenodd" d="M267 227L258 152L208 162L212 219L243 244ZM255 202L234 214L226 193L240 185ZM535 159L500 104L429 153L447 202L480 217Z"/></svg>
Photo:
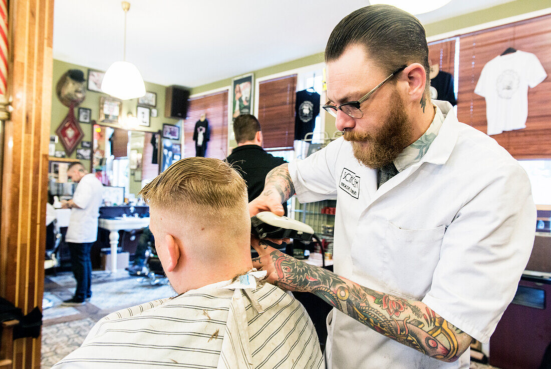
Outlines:
<svg viewBox="0 0 551 369"><path fill-rule="evenodd" d="M73 202L80 208L71 209L65 240L74 243L95 242L98 238L99 208L103 202L103 185L93 174L78 182Z"/></svg>

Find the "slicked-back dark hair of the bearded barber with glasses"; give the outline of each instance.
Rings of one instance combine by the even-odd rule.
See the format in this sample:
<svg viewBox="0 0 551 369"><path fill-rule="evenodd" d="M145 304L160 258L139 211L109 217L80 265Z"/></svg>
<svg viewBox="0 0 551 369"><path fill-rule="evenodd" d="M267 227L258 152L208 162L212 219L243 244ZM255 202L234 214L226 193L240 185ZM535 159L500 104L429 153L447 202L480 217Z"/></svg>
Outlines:
<svg viewBox="0 0 551 369"><path fill-rule="evenodd" d="M364 47L369 58L392 73L404 64L425 67L429 90L429 48L423 25L413 15L390 5L370 5L348 14L331 32L325 62L341 57L349 46Z"/></svg>

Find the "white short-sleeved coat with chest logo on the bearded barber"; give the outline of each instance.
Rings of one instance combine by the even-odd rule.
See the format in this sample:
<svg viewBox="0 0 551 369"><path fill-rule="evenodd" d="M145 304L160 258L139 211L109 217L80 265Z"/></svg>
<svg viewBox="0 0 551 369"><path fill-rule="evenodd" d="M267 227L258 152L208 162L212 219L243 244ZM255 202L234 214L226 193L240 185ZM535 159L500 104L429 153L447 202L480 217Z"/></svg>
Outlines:
<svg viewBox="0 0 551 369"><path fill-rule="evenodd" d="M422 160L377 189L342 138L289 164L300 202L337 198L334 271L360 285L421 300L483 343L514 297L530 257L536 209L526 172L482 132L445 120ZM448 114L448 112L450 112ZM333 310L327 367L468 368L446 363Z"/></svg>

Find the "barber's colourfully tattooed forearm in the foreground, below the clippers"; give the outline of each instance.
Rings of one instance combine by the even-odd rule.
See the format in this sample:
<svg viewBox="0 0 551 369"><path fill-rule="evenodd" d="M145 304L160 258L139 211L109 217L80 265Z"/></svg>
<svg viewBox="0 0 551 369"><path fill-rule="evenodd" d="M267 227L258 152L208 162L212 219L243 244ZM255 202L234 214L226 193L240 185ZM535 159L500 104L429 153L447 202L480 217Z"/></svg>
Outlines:
<svg viewBox="0 0 551 369"><path fill-rule="evenodd" d="M276 285L312 292L376 332L425 355L455 361L471 341L423 302L371 290L279 251L272 251L270 257Z"/></svg>

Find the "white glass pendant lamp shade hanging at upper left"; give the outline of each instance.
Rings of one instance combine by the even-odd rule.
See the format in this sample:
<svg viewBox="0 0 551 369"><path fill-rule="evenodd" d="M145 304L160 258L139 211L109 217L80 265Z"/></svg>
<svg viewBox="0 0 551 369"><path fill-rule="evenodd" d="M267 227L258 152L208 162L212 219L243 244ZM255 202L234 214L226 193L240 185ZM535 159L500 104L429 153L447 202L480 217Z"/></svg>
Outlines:
<svg viewBox="0 0 551 369"><path fill-rule="evenodd" d="M136 99L145 95L145 84L134 64L121 61L111 64L107 69L101 90L117 99Z"/></svg>

